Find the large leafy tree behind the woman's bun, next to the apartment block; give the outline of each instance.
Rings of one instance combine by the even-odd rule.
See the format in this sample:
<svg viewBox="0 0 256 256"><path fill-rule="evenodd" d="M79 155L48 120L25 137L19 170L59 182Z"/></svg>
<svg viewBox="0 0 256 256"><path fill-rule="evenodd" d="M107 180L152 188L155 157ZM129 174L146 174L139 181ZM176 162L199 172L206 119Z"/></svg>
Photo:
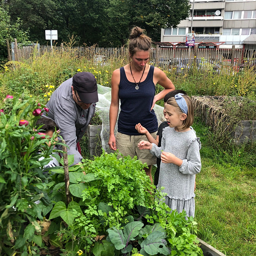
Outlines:
<svg viewBox="0 0 256 256"><path fill-rule="evenodd" d="M108 15L121 44L132 26L146 29L153 41L160 41L161 28L177 26L189 14L187 0L110 0Z"/></svg>

